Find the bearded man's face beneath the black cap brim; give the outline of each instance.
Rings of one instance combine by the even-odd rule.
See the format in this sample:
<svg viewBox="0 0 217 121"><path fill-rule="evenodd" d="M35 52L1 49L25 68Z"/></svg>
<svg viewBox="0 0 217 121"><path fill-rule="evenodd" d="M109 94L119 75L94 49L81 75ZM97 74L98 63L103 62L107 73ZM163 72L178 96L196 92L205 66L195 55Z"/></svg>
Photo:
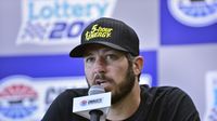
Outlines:
<svg viewBox="0 0 217 121"><path fill-rule="evenodd" d="M85 52L88 84L100 84L112 92L112 104L124 98L135 85L132 67L123 52L103 45L90 45Z"/></svg>

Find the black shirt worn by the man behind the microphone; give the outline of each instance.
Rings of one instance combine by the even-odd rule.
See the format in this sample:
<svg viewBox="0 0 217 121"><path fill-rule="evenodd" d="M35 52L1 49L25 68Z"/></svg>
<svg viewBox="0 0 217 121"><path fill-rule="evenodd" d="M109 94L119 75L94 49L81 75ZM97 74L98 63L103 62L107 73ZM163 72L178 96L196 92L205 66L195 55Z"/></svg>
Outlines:
<svg viewBox="0 0 217 121"><path fill-rule="evenodd" d="M89 121L73 113L73 98L87 95L88 89L73 89L61 93L41 121ZM190 96L178 88L141 85L138 110L124 121L200 121Z"/></svg>

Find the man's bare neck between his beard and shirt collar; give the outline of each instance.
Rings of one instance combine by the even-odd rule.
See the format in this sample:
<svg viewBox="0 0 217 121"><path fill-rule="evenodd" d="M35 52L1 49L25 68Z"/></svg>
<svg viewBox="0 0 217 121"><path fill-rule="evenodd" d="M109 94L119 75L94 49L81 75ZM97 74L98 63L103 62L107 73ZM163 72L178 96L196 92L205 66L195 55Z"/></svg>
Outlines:
<svg viewBox="0 0 217 121"><path fill-rule="evenodd" d="M107 119L124 120L132 116L140 105L140 85L138 81L135 83L132 91L120 102L112 105Z"/></svg>

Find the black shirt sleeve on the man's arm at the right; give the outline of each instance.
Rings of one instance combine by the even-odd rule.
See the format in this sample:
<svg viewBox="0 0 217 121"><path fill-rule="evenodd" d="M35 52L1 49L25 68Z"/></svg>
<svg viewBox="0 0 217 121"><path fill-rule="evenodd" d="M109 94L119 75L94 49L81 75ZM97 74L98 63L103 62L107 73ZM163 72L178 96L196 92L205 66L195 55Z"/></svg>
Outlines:
<svg viewBox="0 0 217 121"><path fill-rule="evenodd" d="M168 121L201 121L191 97L186 92L174 88L167 96Z"/></svg>

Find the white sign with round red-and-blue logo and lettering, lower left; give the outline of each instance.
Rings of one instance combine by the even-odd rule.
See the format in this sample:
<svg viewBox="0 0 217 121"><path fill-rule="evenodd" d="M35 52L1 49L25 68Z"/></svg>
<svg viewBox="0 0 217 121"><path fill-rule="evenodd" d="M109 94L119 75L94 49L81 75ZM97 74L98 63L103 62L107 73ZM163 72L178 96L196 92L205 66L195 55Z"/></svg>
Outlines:
<svg viewBox="0 0 217 121"><path fill-rule="evenodd" d="M40 121L61 92L87 88L81 77L35 79L11 76L0 82L0 121Z"/></svg>

